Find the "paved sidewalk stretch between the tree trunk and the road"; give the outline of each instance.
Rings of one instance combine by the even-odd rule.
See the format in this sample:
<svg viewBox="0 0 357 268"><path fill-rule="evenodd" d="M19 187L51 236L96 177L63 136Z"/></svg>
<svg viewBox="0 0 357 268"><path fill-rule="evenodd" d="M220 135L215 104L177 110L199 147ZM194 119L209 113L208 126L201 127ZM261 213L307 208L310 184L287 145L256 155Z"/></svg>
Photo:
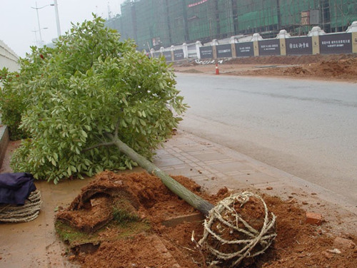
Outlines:
<svg viewBox="0 0 357 268"><path fill-rule="evenodd" d="M336 232L357 233L357 206L330 190L273 168L209 140L178 131L158 150L156 165L170 175L190 177L208 192L260 190L283 200L295 198L306 211L319 212Z"/></svg>

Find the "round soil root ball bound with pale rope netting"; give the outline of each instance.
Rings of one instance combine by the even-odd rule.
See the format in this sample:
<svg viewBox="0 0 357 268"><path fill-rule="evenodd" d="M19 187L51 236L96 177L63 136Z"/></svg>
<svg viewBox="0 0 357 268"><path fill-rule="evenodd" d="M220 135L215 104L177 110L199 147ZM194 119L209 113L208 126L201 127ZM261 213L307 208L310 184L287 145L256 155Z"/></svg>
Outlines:
<svg viewBox="0 0 357 268"><path fill-rule="evenodd" d="M276 216L252 192L238 192L213 207L198 244L211 255L211 264L235 267L243 259L268 249L276 237Z"/></svg>

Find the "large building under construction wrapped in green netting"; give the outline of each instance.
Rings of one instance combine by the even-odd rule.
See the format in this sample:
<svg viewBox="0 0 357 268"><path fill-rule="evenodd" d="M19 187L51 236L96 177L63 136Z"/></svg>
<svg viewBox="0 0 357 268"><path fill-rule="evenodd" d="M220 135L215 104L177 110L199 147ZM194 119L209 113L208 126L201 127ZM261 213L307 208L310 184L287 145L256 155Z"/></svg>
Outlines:
<svg viewBox="0 0 357 268"><path fill-rule="evenodd" d="M106 25L149 51L242 34L273 38L281 29L291 36L313 26L333 33L356 20L356 0L127 0Z"/></svg>

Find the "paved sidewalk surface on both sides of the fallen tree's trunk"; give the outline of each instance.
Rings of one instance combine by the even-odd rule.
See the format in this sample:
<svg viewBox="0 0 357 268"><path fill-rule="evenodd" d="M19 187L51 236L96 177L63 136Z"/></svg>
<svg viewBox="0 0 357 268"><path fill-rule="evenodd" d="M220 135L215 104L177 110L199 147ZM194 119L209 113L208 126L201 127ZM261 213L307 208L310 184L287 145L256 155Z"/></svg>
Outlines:
<svg viewBox="0 0 357 268"><path fill-rule="evenodd" d="M11 172L6 168L11 146L12 143L0 172ZM181 130L157 150L154 163L170 175L190 177L212 193L228 187L258 189L283 200L293 197L303 209L320 212L334 231L357 232L357 208L344 204L342 197ZM27 223L0 224L0 267L78 267L62 256L65 247L56 237L54 215L57 206L69 205L88 182L74 180L59 185L36 182L43 201L39 217Z"/></svg>

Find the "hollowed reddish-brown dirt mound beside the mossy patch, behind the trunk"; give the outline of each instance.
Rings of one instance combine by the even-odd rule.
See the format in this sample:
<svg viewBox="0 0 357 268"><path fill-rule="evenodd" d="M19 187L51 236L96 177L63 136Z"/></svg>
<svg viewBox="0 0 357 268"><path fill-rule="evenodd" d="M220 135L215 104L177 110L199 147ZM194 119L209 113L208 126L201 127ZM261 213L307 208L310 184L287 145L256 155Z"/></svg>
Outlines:
<svg viewBox="0 0 357 268"><path fill-rule="evenodd" d="M191 192L201 190L185 177L177 176L175 179ZM125 175L101 172L96 180L81 189L81 194L66 210L57 213L56 218L76 230L94 233L114 219L116 210L125 210L126 214L135 214L143 219L151 217L155 222L193 212L193 208L178 200L159 178L146 172Z"/></svg>

